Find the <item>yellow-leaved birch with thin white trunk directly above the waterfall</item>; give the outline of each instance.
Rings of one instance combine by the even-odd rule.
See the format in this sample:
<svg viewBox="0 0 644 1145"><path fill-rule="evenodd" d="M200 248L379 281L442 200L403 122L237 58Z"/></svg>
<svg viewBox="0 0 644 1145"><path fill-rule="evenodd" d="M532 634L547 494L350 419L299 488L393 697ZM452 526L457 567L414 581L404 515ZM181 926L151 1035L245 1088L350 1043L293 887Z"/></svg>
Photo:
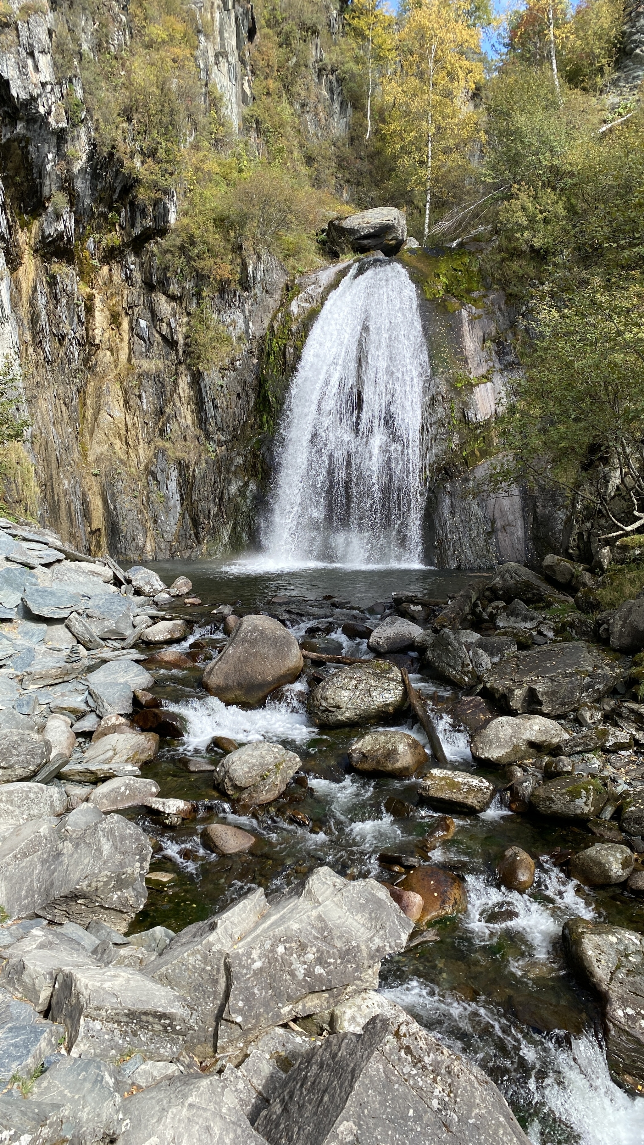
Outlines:
<svg viewBox="0 0 644 1145"><path fill-rule="evenodd" d="M482 80L480 33L449 0L417 0L398 35L399 66L384 80L385 133L411 189L423 191L423 243L437 171L468 164L477 137L471 94Z"/></svg>

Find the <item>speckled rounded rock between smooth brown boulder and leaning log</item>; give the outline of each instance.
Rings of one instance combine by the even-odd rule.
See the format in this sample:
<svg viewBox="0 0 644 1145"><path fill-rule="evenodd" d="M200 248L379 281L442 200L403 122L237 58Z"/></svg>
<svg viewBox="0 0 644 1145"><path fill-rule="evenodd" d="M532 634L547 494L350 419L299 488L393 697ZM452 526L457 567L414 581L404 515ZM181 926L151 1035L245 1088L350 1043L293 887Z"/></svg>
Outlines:
<svg viewBox="0 0 644 1145"><path fill-rule="evenodd" d="M387 661L375 660L328 676L312 693L309 710L317 727L346 727L393 716L406 703L400 670Z"/></svg>

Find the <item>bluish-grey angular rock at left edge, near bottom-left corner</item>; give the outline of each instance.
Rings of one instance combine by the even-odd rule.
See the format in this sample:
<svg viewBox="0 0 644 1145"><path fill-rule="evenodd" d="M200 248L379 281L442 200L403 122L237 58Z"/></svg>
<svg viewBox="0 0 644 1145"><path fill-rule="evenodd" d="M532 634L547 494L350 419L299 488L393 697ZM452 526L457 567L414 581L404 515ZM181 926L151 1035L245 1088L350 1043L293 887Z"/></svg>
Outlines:
<svg viewBox="0 0 644 1145"><path fill-rule="evenodd" d="M31 1077L45 1058L56 1053L62 1026L41 1018L33 1005L0 989L0 1082Z"/></svg>

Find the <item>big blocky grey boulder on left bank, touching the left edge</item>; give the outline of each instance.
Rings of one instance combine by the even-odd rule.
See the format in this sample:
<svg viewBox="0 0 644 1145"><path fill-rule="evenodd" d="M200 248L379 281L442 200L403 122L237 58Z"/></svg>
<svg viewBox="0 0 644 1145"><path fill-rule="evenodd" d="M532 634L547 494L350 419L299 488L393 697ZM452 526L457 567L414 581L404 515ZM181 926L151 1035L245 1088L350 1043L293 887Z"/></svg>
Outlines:
<svg viewBox="0 0 644 1145"><path fill-rule="evenodd" d="M121 815L76 831L23 823L0 843L0 903L11 918L97 918L125 931L148 897L150 856L148 836Z"/></svg>

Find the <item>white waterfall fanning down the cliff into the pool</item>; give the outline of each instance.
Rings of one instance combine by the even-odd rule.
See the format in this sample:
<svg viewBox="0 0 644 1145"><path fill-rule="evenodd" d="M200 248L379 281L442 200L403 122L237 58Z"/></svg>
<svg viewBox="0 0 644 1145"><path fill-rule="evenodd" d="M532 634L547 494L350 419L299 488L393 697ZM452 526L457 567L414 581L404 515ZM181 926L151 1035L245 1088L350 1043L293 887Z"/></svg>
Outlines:
<svg viewBox="0 0 644 1145"><path fill-rule="evenodd" d="M407 271L358 263L327 299L286 401L264 537L272 564L422 562L429 377Z"/></svg>

